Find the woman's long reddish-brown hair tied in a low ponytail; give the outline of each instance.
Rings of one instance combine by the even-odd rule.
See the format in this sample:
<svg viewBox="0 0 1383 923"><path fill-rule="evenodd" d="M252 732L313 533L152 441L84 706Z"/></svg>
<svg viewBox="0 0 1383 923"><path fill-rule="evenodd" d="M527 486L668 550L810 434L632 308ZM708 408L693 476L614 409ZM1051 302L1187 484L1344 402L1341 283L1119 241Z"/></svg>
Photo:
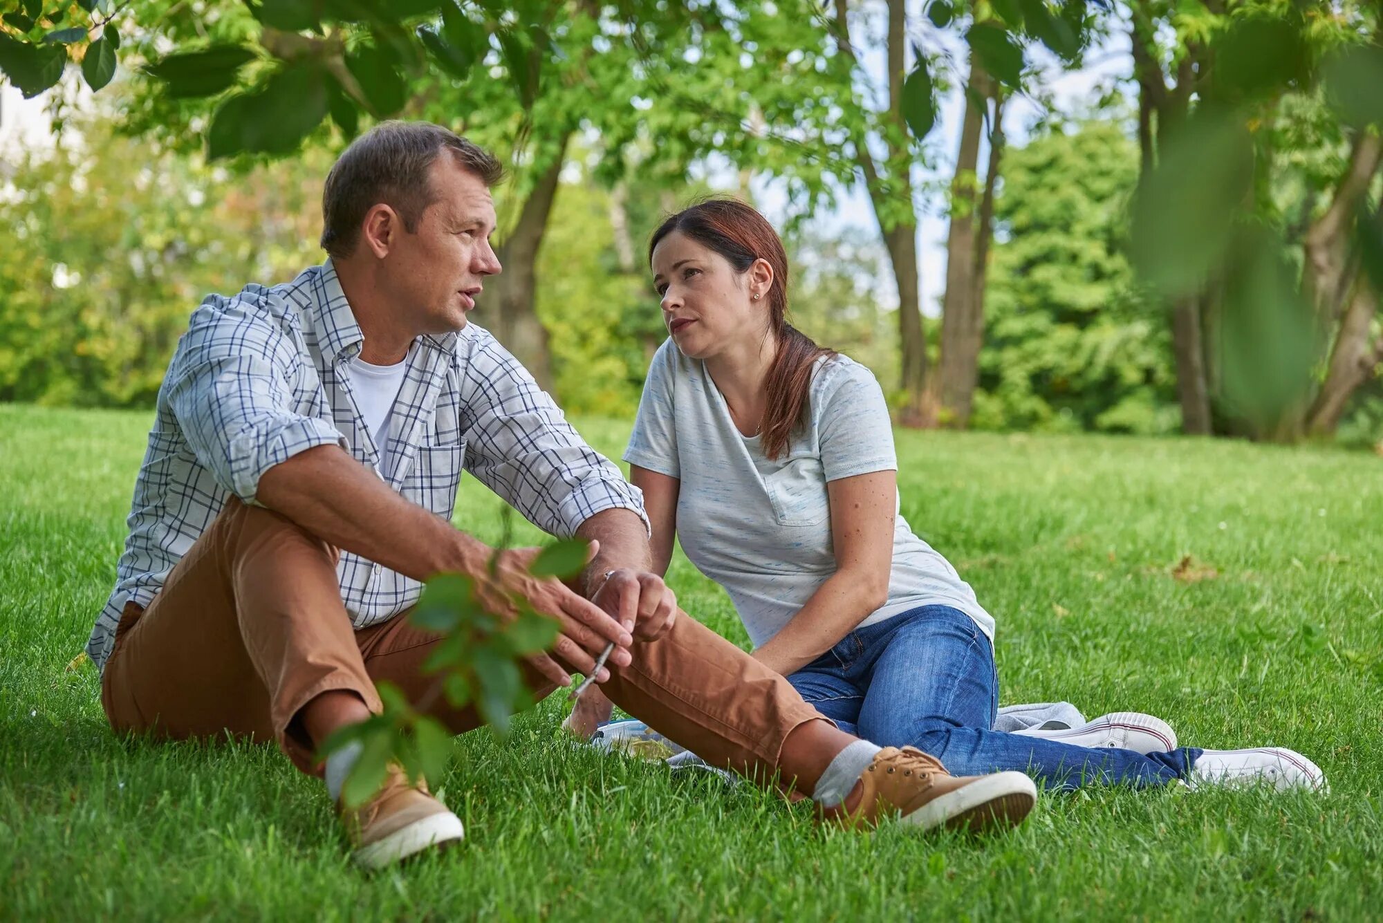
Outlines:
<svg viewBox="0 0 1383 923"><path fill-rule="evenodd" d="M649 242L649 263L662 238L680 231L697 243L725 257L736 272L745 272L755 260L773 267L769 289L769 330L777 340L777 355L769 366L761 432L763 455L777 459L787 449L792 431L802 423L812 390L812 368L835 350L819 347L787 322L787 253L773 225L752 207L734 199L708 199L683 209L658 225Z"/></svg>

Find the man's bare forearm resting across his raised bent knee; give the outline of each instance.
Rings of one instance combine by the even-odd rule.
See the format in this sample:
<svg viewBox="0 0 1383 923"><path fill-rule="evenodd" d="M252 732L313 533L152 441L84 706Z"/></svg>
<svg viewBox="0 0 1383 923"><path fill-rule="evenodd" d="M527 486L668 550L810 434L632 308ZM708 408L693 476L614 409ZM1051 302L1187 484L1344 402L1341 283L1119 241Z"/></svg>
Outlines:
<svg viewBox="0 0 1383 923"><path fill-rule="evenodd" d="M339 446L275 464L260 478L256 499L324 542L415 580L443 571L480 573L491 551L405 500Z"/></svg>

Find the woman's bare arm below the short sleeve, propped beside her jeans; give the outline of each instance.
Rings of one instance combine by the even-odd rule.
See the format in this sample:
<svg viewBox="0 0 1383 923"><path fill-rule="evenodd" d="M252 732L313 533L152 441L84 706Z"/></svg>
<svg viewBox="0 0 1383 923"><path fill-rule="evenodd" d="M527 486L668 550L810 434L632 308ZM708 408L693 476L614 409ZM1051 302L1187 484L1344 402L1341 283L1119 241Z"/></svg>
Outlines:
<svg viewBox="0 0 1383 923"><path fill-rule="evenodd" d="M898 473L871 471L831 481L826 493L835 573L817 587L781 631L754 652L755 659L783 676L830 651L888 600Z"/></svg>

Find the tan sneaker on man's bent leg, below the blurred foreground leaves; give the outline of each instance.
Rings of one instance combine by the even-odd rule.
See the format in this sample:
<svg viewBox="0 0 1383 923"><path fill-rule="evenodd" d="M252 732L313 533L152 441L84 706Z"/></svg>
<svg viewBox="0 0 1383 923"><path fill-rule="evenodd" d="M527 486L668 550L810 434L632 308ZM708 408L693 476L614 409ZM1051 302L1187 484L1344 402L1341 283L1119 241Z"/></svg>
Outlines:
<svg viewBox="0 0 1383 923"><path fill-rule="evenodd" d="M423 782L409 782L398 765L390 765L372 801L354 811L343 807L342 822L355 846L351 858L368 869L465 836L461 818L434 799Z"/></svg>

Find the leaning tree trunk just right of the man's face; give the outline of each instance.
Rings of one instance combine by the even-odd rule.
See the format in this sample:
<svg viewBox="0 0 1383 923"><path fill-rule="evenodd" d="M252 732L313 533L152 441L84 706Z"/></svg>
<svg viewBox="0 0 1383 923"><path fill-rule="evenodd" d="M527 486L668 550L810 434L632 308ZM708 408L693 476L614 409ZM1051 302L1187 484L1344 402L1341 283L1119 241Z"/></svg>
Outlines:
<svg viewBox="0 0 1383 923"><path fill-rule="evenodd" d="M561 140L557 156L542 171L519 211L519 222L505 238L496 256L503 272L491 285L498 296L498 312L487 312L481 319L506 350L523 362L538 384L552 390L552 356L548 351L548 332L537 311L538 250L548 231L548 217L557 198L561 164L566 162L567 138Z"/></svg>

